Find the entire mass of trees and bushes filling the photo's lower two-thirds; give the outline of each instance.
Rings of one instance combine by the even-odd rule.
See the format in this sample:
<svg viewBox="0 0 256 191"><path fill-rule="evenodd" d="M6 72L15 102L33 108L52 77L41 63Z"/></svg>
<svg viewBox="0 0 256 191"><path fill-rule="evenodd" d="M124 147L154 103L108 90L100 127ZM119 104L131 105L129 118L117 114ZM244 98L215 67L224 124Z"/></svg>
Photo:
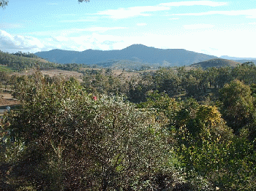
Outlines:
<svg viewBox="0 0 256 191"><path fill-rule="evenodd" d="M3 71L1 190L256 190L254 64L83 73Z"/></svg>

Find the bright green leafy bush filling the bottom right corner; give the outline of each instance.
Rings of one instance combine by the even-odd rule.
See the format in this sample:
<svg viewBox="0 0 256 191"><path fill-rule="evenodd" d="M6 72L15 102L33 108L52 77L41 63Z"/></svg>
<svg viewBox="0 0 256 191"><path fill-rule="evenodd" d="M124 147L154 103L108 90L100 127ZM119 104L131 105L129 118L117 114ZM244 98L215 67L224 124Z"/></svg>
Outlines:
<svg viewBox="0 0 256 191"><path fill-rule="evenodd" d="M248 140L235 136L229 141L203 139L200 144L191 140L189 146L181 146L178 152L189 179L203 176L220 190L255 190L256 161L252 147Z"/></svg>

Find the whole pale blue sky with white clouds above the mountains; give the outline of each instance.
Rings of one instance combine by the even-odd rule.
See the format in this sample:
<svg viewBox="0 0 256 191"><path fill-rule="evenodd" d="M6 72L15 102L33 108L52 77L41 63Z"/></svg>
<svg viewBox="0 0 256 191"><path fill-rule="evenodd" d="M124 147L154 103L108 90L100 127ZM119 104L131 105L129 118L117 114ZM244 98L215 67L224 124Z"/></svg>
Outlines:
<svg viewBox="0 0 256 191"><path fill-rule="evenodd" d="M132 44L256 58L255 0L9 0L0 50L121 50Z"/></svg>

